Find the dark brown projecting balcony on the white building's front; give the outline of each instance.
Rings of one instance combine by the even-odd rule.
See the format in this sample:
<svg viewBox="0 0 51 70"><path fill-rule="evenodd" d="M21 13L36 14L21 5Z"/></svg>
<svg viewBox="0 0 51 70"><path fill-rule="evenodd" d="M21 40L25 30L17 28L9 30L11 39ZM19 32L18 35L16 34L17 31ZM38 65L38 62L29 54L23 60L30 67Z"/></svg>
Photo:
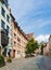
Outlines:
<svg viewBox="0 0 51 70"><path fill-rule="evenodd" d="M5 47L9 43L8 31L5 29L1 30L1 45Z"/></svg>

